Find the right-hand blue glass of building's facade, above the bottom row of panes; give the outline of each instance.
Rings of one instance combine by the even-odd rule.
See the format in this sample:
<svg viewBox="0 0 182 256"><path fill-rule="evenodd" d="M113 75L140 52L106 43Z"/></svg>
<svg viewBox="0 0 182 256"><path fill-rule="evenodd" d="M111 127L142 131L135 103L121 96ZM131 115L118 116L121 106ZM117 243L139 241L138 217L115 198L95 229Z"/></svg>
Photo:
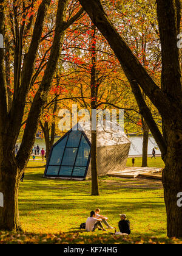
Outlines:
<svg viewBox="0 0 182 256"><path fill-rule="evenodd" d="M87 166L90 155L90 146L84 136L81 138L81 143L78 149L75 166Z"/></svg>

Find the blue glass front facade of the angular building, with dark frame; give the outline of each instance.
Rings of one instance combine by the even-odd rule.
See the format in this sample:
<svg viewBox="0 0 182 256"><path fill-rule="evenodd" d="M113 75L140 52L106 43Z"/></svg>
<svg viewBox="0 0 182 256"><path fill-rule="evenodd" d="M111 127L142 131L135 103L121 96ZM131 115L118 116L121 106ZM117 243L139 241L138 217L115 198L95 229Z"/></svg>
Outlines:
<svg viewBox="0 0 182 256"><path fill-rule="evenodd" d="M84 178L90 163L90 141L81 130L70 130L52 148L45 177Z"/></svg>

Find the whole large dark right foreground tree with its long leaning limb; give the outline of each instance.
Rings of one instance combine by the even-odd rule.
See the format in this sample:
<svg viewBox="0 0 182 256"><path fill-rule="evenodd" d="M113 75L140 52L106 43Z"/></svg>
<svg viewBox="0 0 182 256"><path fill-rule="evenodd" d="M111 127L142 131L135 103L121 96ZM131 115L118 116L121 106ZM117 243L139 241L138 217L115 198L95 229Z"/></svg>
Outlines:
<svg viewBox="0 0 182 256"><path fill-rule="evenodd" d="M180 34L180 0L157 0L161 39L161 88L110 22L100 0L79 0L93 23L98 27L130 82L136 102L161 150L165 163L163 171L164 198L167 212L167 235L182 237L182 207L177 206L177 194L182 190L182 90L180 54L177 35ZM157 107L163 119L163 134L158 129L142 91Z"/></svg>

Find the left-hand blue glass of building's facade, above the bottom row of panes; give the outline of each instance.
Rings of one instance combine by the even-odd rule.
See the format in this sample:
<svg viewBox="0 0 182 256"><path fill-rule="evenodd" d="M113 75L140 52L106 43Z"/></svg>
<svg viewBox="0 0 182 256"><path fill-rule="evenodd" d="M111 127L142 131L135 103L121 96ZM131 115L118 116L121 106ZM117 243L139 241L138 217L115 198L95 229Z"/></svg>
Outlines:
<svg viewBox="0 0 182 256"><path fill-rule="evenodd" d="M66 146L66 141L67 141L67 136L53 148L49 165L60 165L62 160L62 155L64 153L64 148Z"/></svg>

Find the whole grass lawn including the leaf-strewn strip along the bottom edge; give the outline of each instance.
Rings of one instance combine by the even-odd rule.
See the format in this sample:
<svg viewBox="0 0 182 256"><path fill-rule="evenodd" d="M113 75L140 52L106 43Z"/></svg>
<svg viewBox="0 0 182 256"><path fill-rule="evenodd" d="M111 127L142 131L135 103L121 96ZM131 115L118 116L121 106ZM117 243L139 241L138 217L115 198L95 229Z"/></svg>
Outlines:
<svg viewBox="0 0 182 256"><path fill-rule="evenodd" d="M128 160L130 164L130 159ZM140 164L140 159L136 160ZM155 160L153 160L153 163ZM160 166L160 159L155 163ZM159 180L99 179L101 195L90 196L91 182L43 178L45 163L29 162L19 190L23 234L0 232L0 243L180 243L166 240L166 210ZM152 162L150 163L152 164ZM118 228L120 213L130 220L129 238L79 230L91 210L101 208Z"/></svg>

